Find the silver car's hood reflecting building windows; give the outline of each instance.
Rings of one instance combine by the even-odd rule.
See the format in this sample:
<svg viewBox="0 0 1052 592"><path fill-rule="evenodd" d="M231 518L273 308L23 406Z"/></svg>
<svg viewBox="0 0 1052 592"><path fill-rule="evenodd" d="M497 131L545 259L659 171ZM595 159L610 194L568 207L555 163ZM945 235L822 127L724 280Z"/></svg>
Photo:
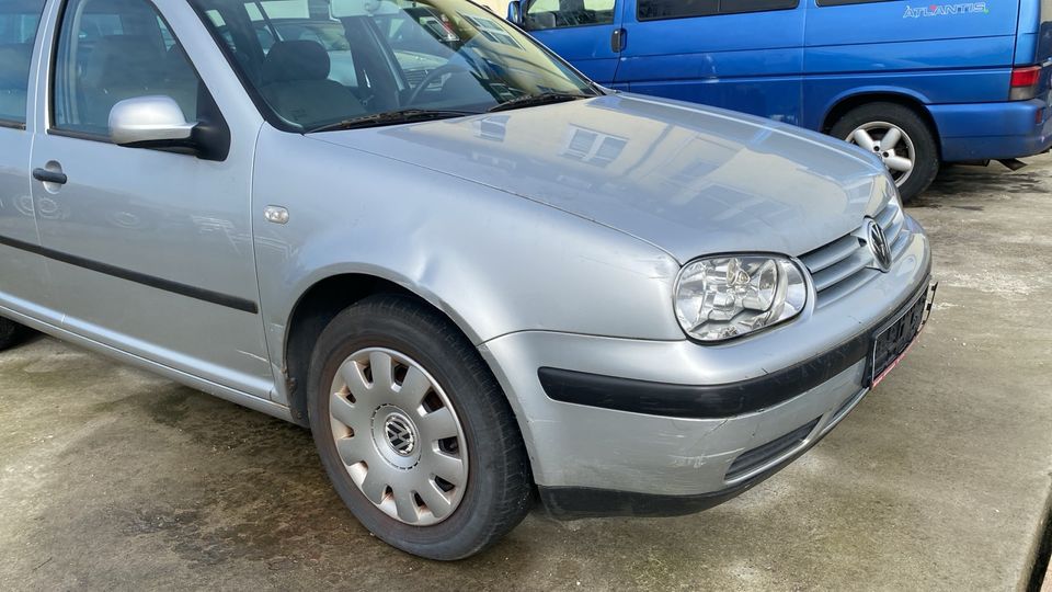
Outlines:
<svg viewBox="0 0 1052 592"><path fill-rule="evenodd" d="M893 192L878 160L838 140L631 94L311 137L547 204L681 262L803 254Z"/></svg>

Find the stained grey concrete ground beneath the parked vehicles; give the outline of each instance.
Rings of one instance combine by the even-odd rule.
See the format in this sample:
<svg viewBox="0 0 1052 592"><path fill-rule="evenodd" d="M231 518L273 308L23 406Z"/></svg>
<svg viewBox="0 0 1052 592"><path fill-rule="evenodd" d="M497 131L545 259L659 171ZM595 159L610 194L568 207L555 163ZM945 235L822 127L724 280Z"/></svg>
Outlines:
<svg viewBox="0 0 1052 592"><path fill-rule="evenodd" d="M557 523L435 563L371 537L309 434L48 338L0 354L0 589L1009 590L1050 496L1052 158L910 208L935 318L834 433L679 519Z"/></svg>

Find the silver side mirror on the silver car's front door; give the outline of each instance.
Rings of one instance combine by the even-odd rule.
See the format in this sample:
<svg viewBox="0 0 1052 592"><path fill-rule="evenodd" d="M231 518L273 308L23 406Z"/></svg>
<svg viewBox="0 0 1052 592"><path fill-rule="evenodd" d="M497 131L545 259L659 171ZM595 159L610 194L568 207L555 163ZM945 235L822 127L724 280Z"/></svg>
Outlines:
<svg viewBox="0 0 1052 592"><path fill-rule="evenodd" d="M195 125L171 96L125 99L110 111L110 138L119 146L188 146Z"/></svg>

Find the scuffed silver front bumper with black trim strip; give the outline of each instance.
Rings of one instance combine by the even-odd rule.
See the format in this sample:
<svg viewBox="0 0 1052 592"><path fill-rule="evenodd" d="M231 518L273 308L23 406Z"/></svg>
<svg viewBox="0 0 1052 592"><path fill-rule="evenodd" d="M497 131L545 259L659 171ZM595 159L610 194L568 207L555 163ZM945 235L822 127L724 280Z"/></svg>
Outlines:
<svg viewBox="0 0 1052 592"><path fill-rule="evenodd" d="M926 288L929 271L927 238L914 226L890 273L821 311L809 308L784 327L735 342L702 346L527 331L494 339L481 352L510 396L550 512L560 517L693 512L777 471L861 400L868 390L867 351L844 345L862 335L868 343L873 329ZM843 353L809 364L830 352ZM605 388L593 401L556 400L567 397L546 392L541 368L622 378L628 390L640 382L673 385L674 396L687 396L665 410L660 405L667 400L648 401L645 391L636 408L625 407L630 397L604 399ZM716 410L690 405L705 400L712 387L689 385L734 390L743 382L765 384L775 399L756 405L744 390ZM698 388L701 396L691 398Z"/></svg>

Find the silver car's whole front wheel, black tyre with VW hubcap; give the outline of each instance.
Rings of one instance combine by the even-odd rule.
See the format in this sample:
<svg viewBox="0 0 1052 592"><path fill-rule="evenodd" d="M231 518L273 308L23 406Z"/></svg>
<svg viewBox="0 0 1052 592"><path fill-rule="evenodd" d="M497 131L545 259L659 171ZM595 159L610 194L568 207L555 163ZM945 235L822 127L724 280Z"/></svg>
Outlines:
<svg viewBox="0 0 1052 592"><path fill-rule="evenodd" d="M526 516L518 424L478 351L439 314L403 296L359 301L322 331L309 380L329 478L380 539L462 559Z"/></svg>

